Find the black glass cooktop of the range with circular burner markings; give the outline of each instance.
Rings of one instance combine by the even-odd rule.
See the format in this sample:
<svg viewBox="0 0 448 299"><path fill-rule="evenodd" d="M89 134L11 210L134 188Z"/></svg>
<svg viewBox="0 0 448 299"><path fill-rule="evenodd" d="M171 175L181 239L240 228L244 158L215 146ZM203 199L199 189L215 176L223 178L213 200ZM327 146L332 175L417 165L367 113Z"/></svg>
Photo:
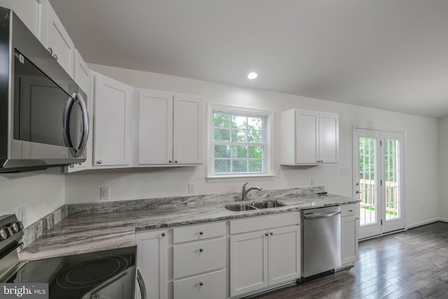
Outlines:
<svg viewBox="0 0 448 299"><path fill-rule="evenodd" d="M48 283L50 298L55 299L132 298L136 250L132 246L34 260L8 282Z"/></svg>

